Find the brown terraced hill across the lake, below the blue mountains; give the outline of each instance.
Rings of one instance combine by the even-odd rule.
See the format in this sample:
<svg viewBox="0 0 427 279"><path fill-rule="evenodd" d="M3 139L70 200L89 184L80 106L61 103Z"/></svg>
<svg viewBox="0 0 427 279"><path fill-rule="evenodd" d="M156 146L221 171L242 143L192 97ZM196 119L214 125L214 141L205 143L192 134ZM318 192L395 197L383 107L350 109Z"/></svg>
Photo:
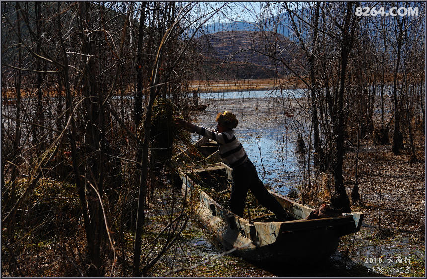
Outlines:
<svg viewBox="0 0 427 279"><path fill-rule="evenodd" d="M297 72L304 72L300 47L275 32L222 31L202 35L195 43L203 61L202 75L211 75L209 79L287 75L289 71L281 60Z"/></svg>

